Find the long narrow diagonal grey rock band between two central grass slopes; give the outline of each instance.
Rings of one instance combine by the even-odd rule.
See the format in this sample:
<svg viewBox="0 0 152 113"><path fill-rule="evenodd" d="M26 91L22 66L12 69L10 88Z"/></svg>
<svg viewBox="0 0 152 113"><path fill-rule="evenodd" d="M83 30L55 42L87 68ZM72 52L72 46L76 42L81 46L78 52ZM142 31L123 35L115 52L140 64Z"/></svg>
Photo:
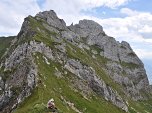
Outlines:
<svg viewBox="0 0 152 113"><path fill-rule="evenodd" d="M111 87L105 84L105 82L96 75L93 68L89 68L85 65L82 65L79 61L69 59L65 64L65 69L71 73L77 75L80 79L88 82L89 87L96 92L97 94L103 96L106 100L111 101L117 107L128 112L128 107Z"/></svg>

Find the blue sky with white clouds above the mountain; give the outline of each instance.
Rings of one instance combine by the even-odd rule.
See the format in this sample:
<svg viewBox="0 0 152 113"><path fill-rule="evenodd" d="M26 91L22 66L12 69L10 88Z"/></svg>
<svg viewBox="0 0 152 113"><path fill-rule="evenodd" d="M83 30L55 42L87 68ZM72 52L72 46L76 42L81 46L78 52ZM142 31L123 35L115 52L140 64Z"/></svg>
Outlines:
<svg viewBox="0 0 152 113"><path fill-rule="evenodd" d="M24 18L54 10L67 25L90 19L109 36L127 41L152 84L152 0L0 0L0 36L17 35Z"/></svg>

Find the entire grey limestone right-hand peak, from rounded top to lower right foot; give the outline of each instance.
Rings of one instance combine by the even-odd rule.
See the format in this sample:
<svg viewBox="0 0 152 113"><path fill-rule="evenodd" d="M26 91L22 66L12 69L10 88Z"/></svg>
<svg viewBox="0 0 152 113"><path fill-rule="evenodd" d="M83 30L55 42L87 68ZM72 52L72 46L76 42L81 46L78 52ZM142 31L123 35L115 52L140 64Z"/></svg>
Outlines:
<svg viewBox="0 0 152 113"><path fill-rule="evenodd" d="M124 87L127 95L135 100L144 98L140 95L140 90L148 91L146 71L127 42L119 43L113 37L107 36L102 26L92 20L81 20L79 24L69 26L69 29L83 37L87 45L96 45L101 49L100 55L110 60L104 67L106 72Z"/></svg>

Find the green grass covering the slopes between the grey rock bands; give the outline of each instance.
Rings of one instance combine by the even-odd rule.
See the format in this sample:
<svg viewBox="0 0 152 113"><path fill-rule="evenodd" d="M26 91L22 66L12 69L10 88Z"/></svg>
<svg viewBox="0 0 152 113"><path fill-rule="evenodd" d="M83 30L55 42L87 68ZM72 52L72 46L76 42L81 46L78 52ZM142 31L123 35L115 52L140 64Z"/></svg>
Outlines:
<svg viewBox="0 0 152 113"><path fill-rule="evenodd" d="M35 35L34 40L39 42L44 42L46 45L53 48L53 42L51 40L51 35L57 35L55 33L47 31L40 23L35 19L30 18L33 29L39 27L43 29L43 32L38 32ZM66 42L67 43L67 42ZM75 52L72 49L75 50ZM96 48L93 48L96 49ZM97 50L100 51L100 50ZM107 76L104 71L101 69L101 66L104 66L104 63L107 62L108 59L105 59L99 55L96 55L96 59L91 57L90 51L81 50L76 46L68 43L67 46L68 56L71 58L79 59L86 65L93 67L97 74L111 87L118 91L118 93L124 97L124 93L122 92L122 88L120 85L113 82L109 76ZM15 113L45 113L46 103L50 98L54 98L56 105L60 112L63 113L75 113L69 107L66 102L61 98L63 96L67 101L71 101L75 104L76 108L84 111L84 113L121 113L120 109L113 106L111 103L105 101L101 97L92 97L90 101L84 99L82 95L72 90L69 86L71 83L69 82L69 78L71 78L72 74L68 73L68 75L64 75L63 78L57 78L54 75L55 67L57 67L61 72L61 66L56 64L55 62L51 62L51 65L47 65L42 58L42 55L38 54L39 59L36 59L39 68L39 79L42 80L43 84L39 84L37 88L33 91L32 95L28 97L15 111ZM46 79L45 79L46 78ZM46 88L44 87L46 85ZM144 102L146 103L146 102ZM149 102L151 104L151 102ZM143 105L143 102L133 102L129 101L130 107L129 111L134 113L135 111L131 109L131 106L141 113L146 113L146 111L151 112L152 110L148 107L149 105ZM85 110L86 109L86 110ZM146 111L145 111L146 110Z"/></svg>

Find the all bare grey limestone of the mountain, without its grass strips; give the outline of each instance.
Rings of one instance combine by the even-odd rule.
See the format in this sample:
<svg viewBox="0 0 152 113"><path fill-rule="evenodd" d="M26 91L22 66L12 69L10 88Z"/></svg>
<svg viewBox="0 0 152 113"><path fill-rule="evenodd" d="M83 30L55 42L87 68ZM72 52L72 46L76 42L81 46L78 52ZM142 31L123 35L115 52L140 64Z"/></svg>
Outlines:
<svg viewBox="0 0 152 113"><path fill-rule="evenodd" d="M10 73L9 76L12 77L11 80L4 81L2 78L0 79L0 88L4 90L3 94L0 95L0 110L2 110L4 106L6 107L3 110L6 110L8 107L7 103L10 101L9 99L14 96L13 90L10 90L12 87L18 88L24 86L21 87L21 89L24 90L20 95L18 94L15 97L16 100L12 102L12 105L9 105L9 107L11 106L9 109L15 108L25 97L31 95L31 91L37 85L37 66L34 63L32 55L39 52L48 59L58 61L65 69L80 79L87 80L89 87L95 93L103 96L106 100L111 101L124 111L128 111L125 100L122 99L117 91L108 86L102 78L99 78L92 67L84 65L76 59L68 58L66 55L67 44L63 43L63 40L83 50L91 50L91 46L96 46L100 49L100 52L98 53L98 51L92 50L94 58L96 58L96 54L99 54L109 60L105 67L101 67L107 75L124 88L124 93L126 93L128 97L134 100L146 99L145 96L140 94L141 90L149 93L149 82L144 65L127 42L123 41L119 43L114 38L107 36L102 26L91 20L81 20L79 24L66 26L64 20L59 19L52 10L40 12L34 18L38 21L44 21L42 25L45 29L59 34L58 37L53 36L52 38L55 42L62 43L55 46L60 52L54 51L43 42L40 43L35 40L19 44L1 64L4 72L12 70L16 66L20 68L17 70L14 69L14 72ZM25 38L25 36L31 38L35 36L36 32L31 30L29 27L30 24L27 19L24 21L22 29L17 39L15 39L16 43L14 44L22 41L22 38ZM39 27L37 27L37 30L41 32ZM26 62L24 62L25 59ZM133 64L134 67L130 68L129 64ZM30 68L28 68L28 66L30 66ZM122 76L124 73L125 76ZM18 83L13 84L16 78L18 78ZM21 89L19 89L19 91Z"/></svg>

